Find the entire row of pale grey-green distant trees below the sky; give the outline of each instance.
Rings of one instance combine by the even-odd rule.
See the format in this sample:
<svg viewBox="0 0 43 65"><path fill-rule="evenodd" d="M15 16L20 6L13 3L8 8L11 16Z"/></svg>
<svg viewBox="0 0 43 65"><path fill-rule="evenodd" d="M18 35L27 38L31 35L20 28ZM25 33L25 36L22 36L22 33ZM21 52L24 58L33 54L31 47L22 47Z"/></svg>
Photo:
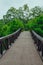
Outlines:
<svg viewBox="0 0 43 65"><path fill-rule="evenodd" d="M29 19L37 17L42 13L43 10L39 6L35 6L29 10L29 6L25 4L23 7L19 7L19 9L11 7L6 15L3 16L3 20L9 22L9 20L17 18L21 19L24 23L27 23Z"/></svg>

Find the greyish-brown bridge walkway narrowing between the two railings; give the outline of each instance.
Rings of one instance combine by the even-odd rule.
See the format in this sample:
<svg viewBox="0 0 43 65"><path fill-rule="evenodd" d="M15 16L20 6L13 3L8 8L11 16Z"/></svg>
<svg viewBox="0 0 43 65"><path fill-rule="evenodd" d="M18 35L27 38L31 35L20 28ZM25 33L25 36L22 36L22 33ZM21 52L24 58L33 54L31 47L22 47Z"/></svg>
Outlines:
<svg viewBox="0 0 43 65"><path fill-rule="evenodd" d="M43 65L30 32L21 32L12 47L0 59L0 65Z"/></svg>

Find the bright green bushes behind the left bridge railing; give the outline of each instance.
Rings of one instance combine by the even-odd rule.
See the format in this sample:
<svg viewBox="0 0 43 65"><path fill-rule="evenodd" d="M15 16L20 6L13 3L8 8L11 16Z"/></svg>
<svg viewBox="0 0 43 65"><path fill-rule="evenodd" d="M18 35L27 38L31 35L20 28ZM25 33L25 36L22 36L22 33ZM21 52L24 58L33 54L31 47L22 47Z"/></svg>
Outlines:
<svg viewBox="0 0 43 65"><path fill-rule="evenodd" d="M0 24L2 25L2 21L0 22ZM0 37L11 34L18 30L19 28L22 29L24 28L22 21L19 19L12 19L7 24L4 24L3 26L0 27Z"/></svg>

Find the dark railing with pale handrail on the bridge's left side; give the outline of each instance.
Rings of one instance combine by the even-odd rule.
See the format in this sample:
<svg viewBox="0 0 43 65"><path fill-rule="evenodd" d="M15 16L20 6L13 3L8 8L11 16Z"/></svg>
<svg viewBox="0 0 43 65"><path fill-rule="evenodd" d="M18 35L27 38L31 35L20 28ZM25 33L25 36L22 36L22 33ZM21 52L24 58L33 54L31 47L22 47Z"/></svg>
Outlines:
<svg viewBox="0 0 43 65"><path fill-rule="evenodd" d="M1 55L3 55L3 52L5 50L9 49L12 43L14 43L14 40L19 36L20 32L21 32L21 29L18 29L16 32L0 38L0 54Z"/></svg>

